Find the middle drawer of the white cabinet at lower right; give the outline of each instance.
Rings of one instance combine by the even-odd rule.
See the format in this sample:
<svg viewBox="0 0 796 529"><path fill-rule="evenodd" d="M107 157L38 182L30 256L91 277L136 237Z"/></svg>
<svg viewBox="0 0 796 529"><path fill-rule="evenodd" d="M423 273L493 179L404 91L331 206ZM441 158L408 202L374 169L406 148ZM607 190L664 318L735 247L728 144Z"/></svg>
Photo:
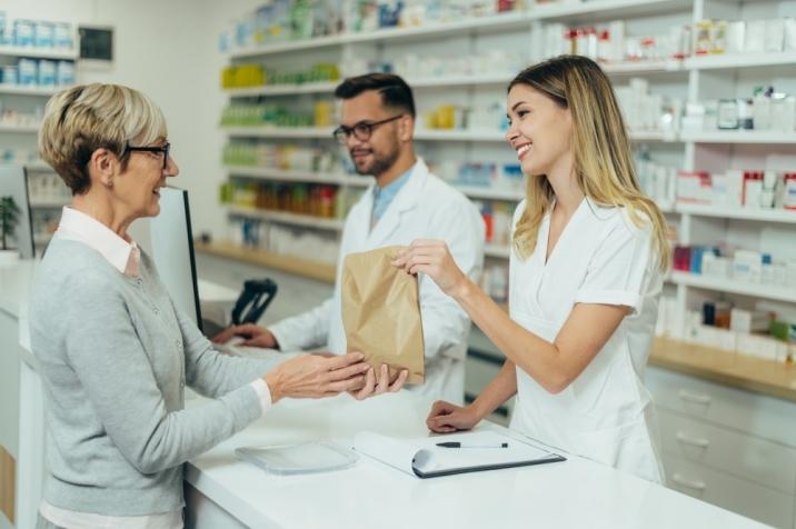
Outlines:
<svg viewBox="0 0 796 529"><path fill-rule="evenodd" d="M664 450L796 495L796 450L658 410Z"/></svg>

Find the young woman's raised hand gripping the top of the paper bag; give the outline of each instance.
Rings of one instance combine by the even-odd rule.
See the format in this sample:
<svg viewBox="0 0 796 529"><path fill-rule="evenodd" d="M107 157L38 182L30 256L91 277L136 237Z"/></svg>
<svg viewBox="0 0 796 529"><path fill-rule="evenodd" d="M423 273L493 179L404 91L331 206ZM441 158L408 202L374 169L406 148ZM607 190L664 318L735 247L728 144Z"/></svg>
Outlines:
<svg viewBox="0 0 796 529"><path fill-rule="evenodd" d="M400 251L400 257L392 264L402 268L407 273L425 273L448 296L464 285L469 278L459 270L441 240L415 239L411 244Z"/></svg>

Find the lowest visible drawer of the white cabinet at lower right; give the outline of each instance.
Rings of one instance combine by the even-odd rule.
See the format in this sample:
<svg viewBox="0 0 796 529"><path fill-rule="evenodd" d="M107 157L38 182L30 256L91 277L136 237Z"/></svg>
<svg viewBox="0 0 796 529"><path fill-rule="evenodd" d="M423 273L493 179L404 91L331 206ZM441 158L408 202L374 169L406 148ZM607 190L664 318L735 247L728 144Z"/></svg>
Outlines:
<svg viewBox="0 0 796 529"><path fill-rule="evenodd" d="M792 528L794 497L664 451L666 486L777 528Z"/></svg>

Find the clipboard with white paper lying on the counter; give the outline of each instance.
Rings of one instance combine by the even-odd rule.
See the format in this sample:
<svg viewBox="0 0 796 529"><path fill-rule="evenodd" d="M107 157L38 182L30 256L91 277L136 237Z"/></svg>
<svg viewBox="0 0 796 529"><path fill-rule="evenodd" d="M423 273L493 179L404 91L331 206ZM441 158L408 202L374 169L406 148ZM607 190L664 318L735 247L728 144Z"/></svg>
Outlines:
<svg viewBox="0 0 796 529"><path fill-rule="evenodd" d="M507 442L507 448L442 448L438 442ZM355 438L354 449L365 456L420 479L531 467L566 461L515 437L499 432L474 431L399 441L372 432Z"/></svg>

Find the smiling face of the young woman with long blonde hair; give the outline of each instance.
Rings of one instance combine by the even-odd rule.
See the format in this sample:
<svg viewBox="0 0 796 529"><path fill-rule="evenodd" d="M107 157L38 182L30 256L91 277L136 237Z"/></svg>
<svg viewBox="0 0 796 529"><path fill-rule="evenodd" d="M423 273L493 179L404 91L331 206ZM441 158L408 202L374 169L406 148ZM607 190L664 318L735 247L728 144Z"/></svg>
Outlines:
<svg viewBox="0 0 796 529"><path fill-rule="evenodd" d="M515 84L508 93L509 129L506 140L517 151L525 174L550 174L571 167L573 116L553 99L527 84Z"/></svg>

